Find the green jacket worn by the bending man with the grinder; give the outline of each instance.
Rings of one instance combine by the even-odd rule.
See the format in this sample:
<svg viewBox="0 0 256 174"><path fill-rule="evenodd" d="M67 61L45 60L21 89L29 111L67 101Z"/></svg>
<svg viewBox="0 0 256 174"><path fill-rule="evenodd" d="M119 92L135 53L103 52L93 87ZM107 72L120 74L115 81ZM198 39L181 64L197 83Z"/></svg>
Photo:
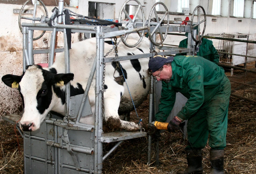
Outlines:
<svg viewBox="0 0 256 174"><path fill-rule="evenodd" d="M160 122L165 122L172 111L177 92L188 99L177 116L187 120L211 100L225 76L222 67L200 56L176 56L171 65L172 78L169 83L162 81L159 111L155 115Z"/></svg>

